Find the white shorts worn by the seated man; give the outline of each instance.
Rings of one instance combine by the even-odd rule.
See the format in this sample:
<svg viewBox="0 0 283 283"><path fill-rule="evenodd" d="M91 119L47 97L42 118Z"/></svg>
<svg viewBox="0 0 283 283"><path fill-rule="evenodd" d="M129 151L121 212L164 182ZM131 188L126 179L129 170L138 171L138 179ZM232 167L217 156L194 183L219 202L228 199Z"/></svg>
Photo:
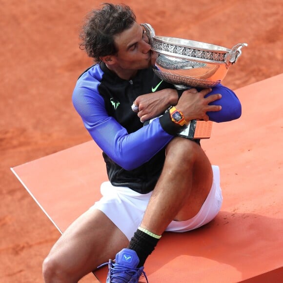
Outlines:
<svg viewBox="0 0 283 283"><path fill-rule="evenodd" d="M222 205L219 167L212 165L213 183L201 210L187 221L172 221L166 231L186 232L210 222ZM140 226L152 192L140 194L128 187L116 187L110 182L101 184L102 198L90 208L101 210L131 240Z"/></svg>

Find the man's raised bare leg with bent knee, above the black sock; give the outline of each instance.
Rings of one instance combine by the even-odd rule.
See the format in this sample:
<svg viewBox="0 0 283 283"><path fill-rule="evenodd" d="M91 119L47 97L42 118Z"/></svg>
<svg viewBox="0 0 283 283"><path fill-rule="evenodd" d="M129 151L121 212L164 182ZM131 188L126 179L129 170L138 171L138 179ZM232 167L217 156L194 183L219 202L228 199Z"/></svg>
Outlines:
<svg viewBox="0 0 283 283"><path fill-rule="evenodd" d="M211 189L212 179L211 164L202 148L190 140L174 138L166 148L162 174L141 227L162 235L172 220L194 217Z"/></svg>

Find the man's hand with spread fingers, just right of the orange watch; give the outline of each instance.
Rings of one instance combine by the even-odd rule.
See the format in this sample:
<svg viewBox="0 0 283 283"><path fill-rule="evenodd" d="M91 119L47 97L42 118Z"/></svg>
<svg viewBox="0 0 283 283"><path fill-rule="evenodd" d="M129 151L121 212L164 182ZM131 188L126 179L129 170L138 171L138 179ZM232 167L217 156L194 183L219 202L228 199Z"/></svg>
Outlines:
<svg viewBox="0 0 283 283"><path fill-rule="evenodd" d="M195 88L185 90L180 97L176 108L182 111L185 120L204 120L208 121L209 117L206 112L220 111L220 105L208 105L212 101L221 99L221 94L212 94L204 98L211 92L211 88L202 89L198 92Z"/></svg>

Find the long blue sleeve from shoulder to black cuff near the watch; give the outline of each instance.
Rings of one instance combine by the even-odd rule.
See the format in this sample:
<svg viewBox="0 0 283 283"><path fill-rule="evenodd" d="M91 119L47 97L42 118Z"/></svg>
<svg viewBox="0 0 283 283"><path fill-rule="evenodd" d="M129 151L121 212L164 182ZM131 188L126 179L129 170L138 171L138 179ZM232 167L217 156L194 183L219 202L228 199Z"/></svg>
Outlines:
<svg viewBox="0 0 283 283"><path fill-rule="evenodd" d="M76 86L72 100L93 140L125 170L135 169L149 161L173 138L162 129L158 119L128 134L107 114L103 98L93 89Z"/></svg>

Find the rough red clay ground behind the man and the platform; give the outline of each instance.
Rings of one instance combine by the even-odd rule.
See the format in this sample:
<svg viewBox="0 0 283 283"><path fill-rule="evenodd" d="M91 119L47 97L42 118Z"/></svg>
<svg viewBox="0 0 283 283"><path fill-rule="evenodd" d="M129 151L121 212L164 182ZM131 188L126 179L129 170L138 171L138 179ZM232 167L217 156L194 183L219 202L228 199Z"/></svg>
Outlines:
<svg viewBox="0 0 283 283"><path fill-rule="evenodd" d="M248 43L223 81L232 89L282 73L281 0L124 2L157 35L227 48ZM78 47L82 18L100 3L1 1L0 282L42 282L41 263L60 235L10 167L90 140L71 94L92 63Z"/></svg>

